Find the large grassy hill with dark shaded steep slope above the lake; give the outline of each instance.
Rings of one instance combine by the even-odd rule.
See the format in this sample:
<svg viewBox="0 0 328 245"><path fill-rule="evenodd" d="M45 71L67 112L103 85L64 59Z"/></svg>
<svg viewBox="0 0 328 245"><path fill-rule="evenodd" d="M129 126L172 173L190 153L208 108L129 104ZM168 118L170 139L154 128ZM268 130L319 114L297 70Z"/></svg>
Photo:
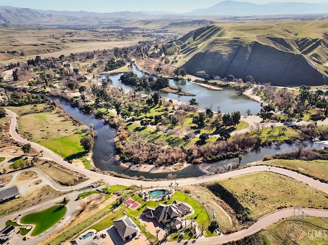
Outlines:
<svg viewBox="0 0 328 245"><path fill-rule="evenodd" d="M215 24L175 43L183 54L182 67L191 74L322 85L328 82L327 28L326 20Z"/></svg>

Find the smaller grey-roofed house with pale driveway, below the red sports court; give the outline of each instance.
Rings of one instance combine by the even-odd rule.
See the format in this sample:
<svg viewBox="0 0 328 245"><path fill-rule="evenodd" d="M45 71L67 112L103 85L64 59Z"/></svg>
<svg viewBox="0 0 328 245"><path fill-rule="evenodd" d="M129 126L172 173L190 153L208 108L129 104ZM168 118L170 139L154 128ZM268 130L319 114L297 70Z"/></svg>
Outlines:
<svg viewBox="0 0 328 245"><path fill-rule="evenodd" d="M126 215L114 220L114 227L123 241L135 237L139 231L137 225Z"/></svg>

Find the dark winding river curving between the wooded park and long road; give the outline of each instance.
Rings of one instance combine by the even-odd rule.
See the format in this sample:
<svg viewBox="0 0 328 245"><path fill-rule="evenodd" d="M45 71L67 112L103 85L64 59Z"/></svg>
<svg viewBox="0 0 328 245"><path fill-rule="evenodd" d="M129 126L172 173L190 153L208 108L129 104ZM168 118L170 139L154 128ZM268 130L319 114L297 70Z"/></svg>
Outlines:
<svg viewBox="0 0 328 245"><path fill-rule="evenodd" d="M126 174L129 176L144 176L149 179L161 179L166 178L168 173L149 173L138 172L122 167L115 160L115 145L113 138L116 130L105 125L103 121L96 119L93 115L84 114L78 108L70 106L70 103L64 99L49 97L60 104L67 113L71 114L76 119L84 122L86 125L91 123L94 125L94 129L97 131L97 137L95 137L95 144L93 148L93 161L97 168L101 170L111 170L117 173ZM252 150L243 155L240 165L245 165L255 161L261 161L264 155L281 154L285 152L291 152L298 149L298 146L302 145L304 149L321 149L322 143L314 142L295 142L293 144L282 144L279 147L276 145L261 147L257 150ZM224 160L217 163L202 163L198 165L191 165L185 169L173 172L177 177L198 177L205 174L214 173L217 170L227 168L231 164L238 164L238 159Z"/></svg>

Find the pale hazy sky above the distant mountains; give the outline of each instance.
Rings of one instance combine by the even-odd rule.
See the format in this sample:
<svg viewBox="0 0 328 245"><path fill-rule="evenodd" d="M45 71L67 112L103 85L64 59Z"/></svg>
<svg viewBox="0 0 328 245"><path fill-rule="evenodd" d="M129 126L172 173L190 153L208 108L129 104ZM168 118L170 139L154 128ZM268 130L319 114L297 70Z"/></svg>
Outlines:
<svg viewBox="0 0 328 245"><path fill-rule="evenodd" d="M305 2L323 3L327 0L235 0L265 4L270 2ZM207 8L222 0L0 0L0 6L13 6L43 10L68 10L89 12L118 11L169 11L189 12L194 9Z"/></svg>

